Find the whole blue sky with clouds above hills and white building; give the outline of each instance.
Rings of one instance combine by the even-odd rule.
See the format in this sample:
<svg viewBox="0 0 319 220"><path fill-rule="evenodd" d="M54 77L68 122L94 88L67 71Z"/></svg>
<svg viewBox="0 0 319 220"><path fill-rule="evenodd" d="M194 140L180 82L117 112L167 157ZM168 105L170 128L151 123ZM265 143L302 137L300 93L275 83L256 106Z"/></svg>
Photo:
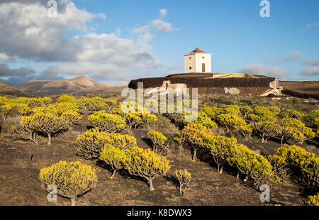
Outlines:
<svg viewBox="0 0 319 220"><path fill-rule="evenodd" d="M103 84L183 72L212 53L213 72L319 79L319 1L0 1L0 81L85 75Z"/></svg>

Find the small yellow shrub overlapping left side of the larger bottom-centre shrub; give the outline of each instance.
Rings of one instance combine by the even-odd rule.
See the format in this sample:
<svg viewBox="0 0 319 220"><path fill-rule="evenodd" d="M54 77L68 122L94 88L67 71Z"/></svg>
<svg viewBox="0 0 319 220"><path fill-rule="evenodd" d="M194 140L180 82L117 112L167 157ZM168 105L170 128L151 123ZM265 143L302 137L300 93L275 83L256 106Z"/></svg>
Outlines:
<svg viewBox="0 0 319 220"><path fill-rule="evenodd" d="M125 167L127 155L125 150L121 150L120 148L116 148L112 145L106 145L106 147L101 151L99 159L112 167L113 173L111 179L113 179L118 170Z"/></svg>

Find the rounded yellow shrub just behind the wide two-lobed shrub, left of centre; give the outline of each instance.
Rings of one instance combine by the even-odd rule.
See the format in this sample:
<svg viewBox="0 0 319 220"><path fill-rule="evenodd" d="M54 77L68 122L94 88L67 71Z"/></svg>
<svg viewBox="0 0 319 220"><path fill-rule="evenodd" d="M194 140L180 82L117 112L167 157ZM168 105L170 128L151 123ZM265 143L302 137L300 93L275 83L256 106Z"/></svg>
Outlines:
<svg viewBox="0 0 319 220"><path fill-rule="evenodd" d="M116 133L122 131L125 126L125 119L116 114L107 114L105 111L98 111L88 117L89 122L101 131Z"/></svg>

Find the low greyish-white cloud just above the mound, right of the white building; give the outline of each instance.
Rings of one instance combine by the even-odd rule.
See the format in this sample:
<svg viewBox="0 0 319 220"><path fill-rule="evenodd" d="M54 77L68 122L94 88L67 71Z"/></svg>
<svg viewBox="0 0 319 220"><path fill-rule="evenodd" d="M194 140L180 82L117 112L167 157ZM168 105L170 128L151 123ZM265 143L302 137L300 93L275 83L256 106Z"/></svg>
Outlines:
<svg viewBox="0 0 319 220"><path fill-rule="evenodd" d="M241 73L247 73L250 75L264 75L268 77L276 77L279 79L287 79L288 72L282 70L279 67L265 67L262 64L254 63L250 65L245 65L240 68Z"/></svg>

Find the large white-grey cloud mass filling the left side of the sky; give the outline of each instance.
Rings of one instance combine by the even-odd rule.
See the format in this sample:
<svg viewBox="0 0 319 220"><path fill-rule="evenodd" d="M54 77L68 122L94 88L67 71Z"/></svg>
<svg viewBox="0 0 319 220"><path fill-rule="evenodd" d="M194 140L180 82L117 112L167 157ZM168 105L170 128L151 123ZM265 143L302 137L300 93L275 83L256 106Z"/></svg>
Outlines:
<svg viewBox="0 0 319 220"><path fill-rule="evenodd" d="M41 79L84 74L94 79L111 79L106 75L127 79L125 75L134 78L162 66L152 55L149 42L156 34L172 30L171 23L161 20L167 15L166 9L159 11L161 19L135 28L132 32L138 36L134 40L120 38L121 29L116 33L91 32L89 23L96 18L105 19L103 13L78 9L72 0L57 0L57 18L49 18L46 3L1 0L0 60L15 57L37 63L62 62L33 77ZM82 31L82 34L67 35L69 30Z"/></svg>

